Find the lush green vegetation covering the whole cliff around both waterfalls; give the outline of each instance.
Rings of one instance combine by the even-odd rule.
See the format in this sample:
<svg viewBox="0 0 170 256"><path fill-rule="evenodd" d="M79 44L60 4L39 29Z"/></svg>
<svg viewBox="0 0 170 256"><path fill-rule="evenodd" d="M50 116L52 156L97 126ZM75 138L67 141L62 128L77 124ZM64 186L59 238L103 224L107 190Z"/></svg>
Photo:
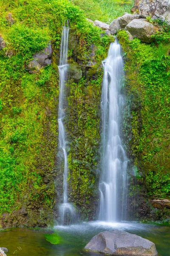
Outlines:
<svg viewBox="0 0 170 256"><path fill-rule="evenodd" d="M10 218L11 212L21 210L23 217L19 224L28 226L51 221L57 200L54 180L56 176L62 180L56 157L57 61L62 26L68 20L69 62L75 66L79 63L83 71L79 81L68 80L65 127L69 142L69 200L82 209L84 219L93 217L99 161L100 64L114 39L101 37L101 30L86 17L110 23L130 12L132 2L0 0L0 36L6 43L0 50L0 215L8 212ZM142 180L147 195L167 197L170 29L166 22L147 19L162 27L152 44L142 44L138 39L129 41L123 30L118 35L125 52L127 109L130 107L130 111L125 109L124 141L135 165L136 179ZM28 63L33 54L43 50L49 41L53 48L52 64L29 73ZM62 183L57 186L62 192ZM3 217L4 222L7 217ZM9 221L12 223L14 219L11 217Z"/></svg>

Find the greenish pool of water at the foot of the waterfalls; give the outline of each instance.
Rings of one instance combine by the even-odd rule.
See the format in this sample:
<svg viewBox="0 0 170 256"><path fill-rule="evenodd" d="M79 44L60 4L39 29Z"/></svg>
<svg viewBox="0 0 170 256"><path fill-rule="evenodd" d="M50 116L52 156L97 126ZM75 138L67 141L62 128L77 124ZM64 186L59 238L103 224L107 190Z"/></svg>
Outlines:
<svg viewBox="0 0 170 256"><path fill-rule="evenodd" d="M82 249L97 233L113 229L125 230L149 239L156 244L159 256L170 256L170 227L134 222L88 222L40 230L15 228L0 232L0 247L8 248L7 256L101 256ZM57 233L62 238L61 244L46 241L45 234L50 233Z"/></svg>

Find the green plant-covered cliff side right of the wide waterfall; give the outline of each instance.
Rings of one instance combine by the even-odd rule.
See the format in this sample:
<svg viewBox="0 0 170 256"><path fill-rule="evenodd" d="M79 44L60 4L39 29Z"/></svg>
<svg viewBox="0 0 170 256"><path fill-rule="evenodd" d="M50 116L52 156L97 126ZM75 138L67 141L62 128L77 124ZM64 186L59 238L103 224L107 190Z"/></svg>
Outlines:
<svg viewBox="0 0 170 256"><path fill-rule="evenodd" d="M127 151L138 171L142 172L148 195L168 197L170 43L164 38L164 32L162 40L156 40L152 44L141 43L138 39L128 41L123 30L118 34L119 42L127 54L126 94L131 123L130 127L124 125Z"/></svg>

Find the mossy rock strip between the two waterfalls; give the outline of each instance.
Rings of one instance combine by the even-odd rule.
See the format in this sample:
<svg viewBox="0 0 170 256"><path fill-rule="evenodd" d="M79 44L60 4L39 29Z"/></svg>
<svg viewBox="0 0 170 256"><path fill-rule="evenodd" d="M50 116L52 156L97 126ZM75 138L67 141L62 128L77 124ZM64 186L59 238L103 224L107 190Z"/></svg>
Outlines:
<svg viewBox="0 0 170 256"><path fill-rule="evenodd" d="M98 201L99 111L103 73L100 61L106 57L109 42L114 39L102 35L100 47L97 49L92 44L83 58L74 32L73 29L69 31L70 67L64 120L68 141L68 201L74 204L83 220L91 220L95 218ZM57 169L57 204L63 200L62 176L63 169Z"/></svg>

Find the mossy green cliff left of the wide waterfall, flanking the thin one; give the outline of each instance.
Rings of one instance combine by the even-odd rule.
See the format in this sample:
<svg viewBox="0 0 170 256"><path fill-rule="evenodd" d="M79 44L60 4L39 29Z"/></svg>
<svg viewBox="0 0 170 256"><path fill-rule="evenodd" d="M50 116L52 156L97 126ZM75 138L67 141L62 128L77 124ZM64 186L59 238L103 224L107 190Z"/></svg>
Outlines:
<svg viewBox="0 0 170 256"><path fill-rule="evenodd" d="M8 13L14 20L12 24L6 20ZM62 170L57 165L56 56L65 20L73 29L69 61L74 66L68 80L65 118L69 200L77 207L82 205L84 219L91 218L89 209L96 200L99 143L99 65L113 38L101 38L101 30L88 23L79 8L66 0L2 1L0 17L0 33L5 41L0 50L1 224L53 224L54 205L62 200ZM29 73L32 56L49 41L53 48L52 64ZM57 184L58 179L61 182Z"/></svg>

